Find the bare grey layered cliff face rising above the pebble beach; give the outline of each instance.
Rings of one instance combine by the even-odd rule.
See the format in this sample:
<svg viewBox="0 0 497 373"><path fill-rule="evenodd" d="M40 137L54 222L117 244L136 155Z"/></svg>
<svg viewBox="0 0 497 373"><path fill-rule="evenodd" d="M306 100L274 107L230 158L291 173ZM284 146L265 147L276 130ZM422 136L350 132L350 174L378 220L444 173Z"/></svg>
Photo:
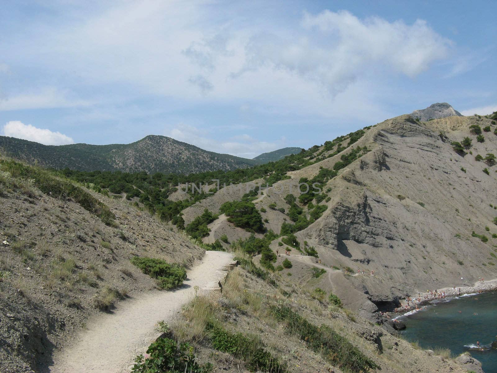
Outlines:
<svg viewBox="0 0 497 373"><path fill-rule="evenodd" d="M349 284L380 308L418 290L495 278L496 166L475 156L496 153L497 136L484 132L485 142L476 142L469 126L487 125L481 121L418 124L403 116L379 124L367 134L375 150L330 182L328 210L298 236L317 245L323 262L375 270ZM450 143L465 136L473 154L462 157ZM370 309L365 303L359 308Z"/></svg>

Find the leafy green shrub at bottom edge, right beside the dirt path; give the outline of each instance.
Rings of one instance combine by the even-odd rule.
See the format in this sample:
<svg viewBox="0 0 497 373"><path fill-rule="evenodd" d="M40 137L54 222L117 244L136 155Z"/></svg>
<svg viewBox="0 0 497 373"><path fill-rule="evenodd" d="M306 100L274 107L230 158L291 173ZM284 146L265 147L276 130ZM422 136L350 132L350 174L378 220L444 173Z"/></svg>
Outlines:
<svg viewBox="0 0 497 373"><path fill-rule="evenodd" d="M159 338L147 349L148 359L139 355L135 359L132 372L135 373L208 373L212 364L198 364L193 346L188 343L177 343L169 338Z"/></svg>

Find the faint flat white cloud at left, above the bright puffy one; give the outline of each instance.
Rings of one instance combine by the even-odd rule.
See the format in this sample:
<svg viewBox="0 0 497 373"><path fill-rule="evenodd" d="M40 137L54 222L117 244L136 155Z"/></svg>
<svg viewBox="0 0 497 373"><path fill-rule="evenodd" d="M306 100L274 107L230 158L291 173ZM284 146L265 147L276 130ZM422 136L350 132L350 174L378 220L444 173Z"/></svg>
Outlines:
<svg viewBox="0 0 497 373"><path fill-rule="evenodd" d="M37 90L34 93L21 93L0 99L0 111L22 109L46 109L54 107L88 106L88 101L71 98L71 94L54 87Z"/></svg>

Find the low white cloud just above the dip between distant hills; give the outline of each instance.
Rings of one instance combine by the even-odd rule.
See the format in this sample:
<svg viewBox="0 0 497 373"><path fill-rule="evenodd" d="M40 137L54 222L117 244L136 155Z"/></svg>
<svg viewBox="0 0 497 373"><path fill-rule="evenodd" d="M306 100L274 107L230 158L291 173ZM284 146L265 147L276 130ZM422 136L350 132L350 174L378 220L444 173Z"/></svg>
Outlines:
<svg viewBox="0 0 497 373"><path fill-rule="evenodd" d="M268 142L259 141L249 135L234 136L230 141L218 141L209 137L209 133L189 125L177 125L166 136L175 140L193 144L201 149L209 150L216 153L233 154L238 157L252 159L261 153L270 152L283 148L286 145L286 138Z"/></svg>

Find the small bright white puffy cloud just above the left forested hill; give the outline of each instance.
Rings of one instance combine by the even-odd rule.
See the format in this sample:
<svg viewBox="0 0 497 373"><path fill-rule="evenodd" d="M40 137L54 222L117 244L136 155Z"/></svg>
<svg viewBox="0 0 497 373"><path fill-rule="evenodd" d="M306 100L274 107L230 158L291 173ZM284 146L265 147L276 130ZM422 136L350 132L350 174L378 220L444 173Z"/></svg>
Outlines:
<svg viewBox="0 0 497 373"><path fill-rule="evenodd" d="M45 145L74 144L74 140L60 132L37 128L31 124L24 124L19 120L11 120L3 126L3 135L35 141Z"/></svg>

